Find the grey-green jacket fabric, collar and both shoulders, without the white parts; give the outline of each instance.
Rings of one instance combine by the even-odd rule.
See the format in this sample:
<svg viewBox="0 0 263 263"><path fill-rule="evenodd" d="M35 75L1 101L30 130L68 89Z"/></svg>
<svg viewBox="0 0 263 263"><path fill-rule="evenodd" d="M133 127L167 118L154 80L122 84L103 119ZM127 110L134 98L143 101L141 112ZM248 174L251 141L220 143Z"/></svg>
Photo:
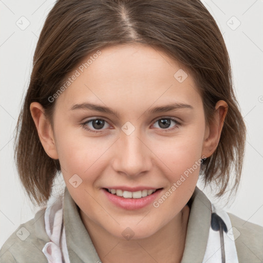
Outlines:
<svg viewBox="0 0 263 263"><path fill-rule="evenodd" d="M189 204L191 210L181 263L201 263L211 225L211 202L196 186ZM33 219L21 224L14 231L0 250L0 263L48 262L42 252L45 244L50 241L45 231L44 214L45 209L38 211ZM228 215L232 227L240 232L239 236L234 232L239 263L263 262L263 227L231 213ZM101 262L81 220L79 207L70 196L67 187L64 192L63 220L70 262ZM20 237L23 231L28 231L26 239Z"/></svg>

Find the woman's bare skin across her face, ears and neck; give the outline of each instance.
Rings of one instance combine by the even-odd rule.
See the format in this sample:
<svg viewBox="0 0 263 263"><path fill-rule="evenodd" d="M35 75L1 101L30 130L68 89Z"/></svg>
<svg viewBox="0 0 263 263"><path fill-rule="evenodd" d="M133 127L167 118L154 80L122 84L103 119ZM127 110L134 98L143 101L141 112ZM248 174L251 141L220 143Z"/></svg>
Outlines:
<svg viewBox="0 0 263 263"><path fill-rule="evenodd" d="M126 211L109 202L102 187L163 187L158 200L201 156L213 154L228 105L218 101L216 121L206 126L194 80L188 74L179 83L174 74L181 66L165 53L144 45L111 46L101 52L54 102L53 130L42 105L30 105L41 143L51 158L60 160L68 191L103 263L180 262L190 214L186 203L200 166L158 208L150 204ZM70 110L84 102L110 107L119 116ZM193 109L145 114L149 108L173 102L190 104ZM181 125L173 120L166 126L158 122L168 117ZM101 133L81 126L93 118L105 120L102 128L92 122L86 126ZM121 129L127 121L135 127L130 135ZM74 174L82 179L77 188L69 183ZM122 236L127 227L134 233L130 240Z"/></svg>

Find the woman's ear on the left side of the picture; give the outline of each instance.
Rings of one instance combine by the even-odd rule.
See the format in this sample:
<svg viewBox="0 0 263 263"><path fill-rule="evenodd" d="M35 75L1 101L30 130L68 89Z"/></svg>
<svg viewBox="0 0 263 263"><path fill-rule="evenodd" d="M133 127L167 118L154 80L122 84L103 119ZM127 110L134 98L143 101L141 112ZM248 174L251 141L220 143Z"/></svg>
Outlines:
<svg viewBox="0 0 263 263"><path fill-rule="evenodd" d="M45 152L50 158L59 159L53 130L50 122L45 117L43 106L38 102L32 102L30 111Z"/></svg>

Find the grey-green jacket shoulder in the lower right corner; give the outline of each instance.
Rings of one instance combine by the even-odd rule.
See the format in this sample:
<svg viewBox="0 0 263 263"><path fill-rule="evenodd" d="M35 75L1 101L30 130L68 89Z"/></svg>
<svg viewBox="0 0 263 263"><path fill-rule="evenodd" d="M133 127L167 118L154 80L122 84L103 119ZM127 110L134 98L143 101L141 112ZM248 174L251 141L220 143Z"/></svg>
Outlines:
<svg viewBox="0 0 263 263"><path fill-rule="evenodd" d="M263 227L228 213L239 262L262 262Z"/></svg>

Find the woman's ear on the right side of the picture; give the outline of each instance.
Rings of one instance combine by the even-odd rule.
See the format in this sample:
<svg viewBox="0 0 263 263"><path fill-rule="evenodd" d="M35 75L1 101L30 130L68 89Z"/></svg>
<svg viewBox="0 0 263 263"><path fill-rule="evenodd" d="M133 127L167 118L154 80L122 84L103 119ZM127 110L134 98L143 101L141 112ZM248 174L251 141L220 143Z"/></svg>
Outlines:
<svg viewBox="0 0 263 263"><path fill-rule="evenodd" d="M228 112L228 104L225 101L218 101L214 111L214 121L205 128L202 155L210 157L216 150L219 143L224 119Z"/></svg>

